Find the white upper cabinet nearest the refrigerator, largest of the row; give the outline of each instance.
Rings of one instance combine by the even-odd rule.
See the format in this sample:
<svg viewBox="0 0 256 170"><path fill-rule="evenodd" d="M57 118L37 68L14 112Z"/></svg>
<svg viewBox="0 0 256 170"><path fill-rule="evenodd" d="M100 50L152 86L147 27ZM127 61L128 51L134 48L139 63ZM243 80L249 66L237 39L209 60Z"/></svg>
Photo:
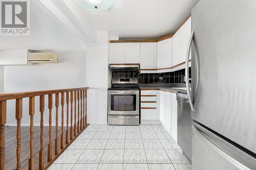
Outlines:
<svg viewBox="0 0 256 170"><path fill-rule="evenodd" d="M173 36L172 66L185 62L187 45L191 34L191 17Z"/></svg>

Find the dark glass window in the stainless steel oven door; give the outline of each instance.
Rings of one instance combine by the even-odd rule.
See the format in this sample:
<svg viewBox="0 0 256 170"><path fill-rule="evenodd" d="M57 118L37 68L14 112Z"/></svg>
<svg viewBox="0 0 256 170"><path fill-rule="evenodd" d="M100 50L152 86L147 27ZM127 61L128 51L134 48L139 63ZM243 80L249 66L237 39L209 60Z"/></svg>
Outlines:
<svg viewBox="0 0 256 170"><path fill-rule="evenodd" d="M136 94L111 94L112 111L136 111Z"/></svg>

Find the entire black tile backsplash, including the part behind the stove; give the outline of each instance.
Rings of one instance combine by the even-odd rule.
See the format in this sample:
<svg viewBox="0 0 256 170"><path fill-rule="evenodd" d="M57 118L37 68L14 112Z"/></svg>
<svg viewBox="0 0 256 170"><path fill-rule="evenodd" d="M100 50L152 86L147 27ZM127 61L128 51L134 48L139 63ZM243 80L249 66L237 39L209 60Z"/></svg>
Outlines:
<svg viewBox="0 0 256 170"><path fill-rule="evenodd" d="M191 67L188 69L191 78ZM139 74L137 70L113 70L112 78L139 78L139 84L185 83L185 68L173 72ZM190 82L190 81L189 81Z"/></svg>

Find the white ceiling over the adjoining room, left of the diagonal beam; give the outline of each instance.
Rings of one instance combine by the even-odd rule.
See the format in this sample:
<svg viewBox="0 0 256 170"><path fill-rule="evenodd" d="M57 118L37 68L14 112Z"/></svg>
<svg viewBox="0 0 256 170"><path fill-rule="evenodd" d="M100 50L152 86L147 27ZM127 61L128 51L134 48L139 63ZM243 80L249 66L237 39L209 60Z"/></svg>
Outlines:
<svg viewBox="0 0 256 170"><path fill-rule="evenodd" d="M33 0L30 1L30 35L0 35L0 49L60 51L86 50L86 46L59 25L44 10L35 5Z"/></svg>

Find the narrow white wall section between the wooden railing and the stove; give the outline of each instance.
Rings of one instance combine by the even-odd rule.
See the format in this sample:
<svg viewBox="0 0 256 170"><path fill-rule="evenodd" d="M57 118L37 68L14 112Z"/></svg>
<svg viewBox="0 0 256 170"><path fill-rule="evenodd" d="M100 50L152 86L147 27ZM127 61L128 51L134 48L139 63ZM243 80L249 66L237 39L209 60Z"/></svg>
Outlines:
<svg viewBox="0 0 256 170"><path fill-rule="evenodd" d="M88 48L87 86L89 124L106 124L108 108L108 32L97 33L98 44Z"/></svg>

